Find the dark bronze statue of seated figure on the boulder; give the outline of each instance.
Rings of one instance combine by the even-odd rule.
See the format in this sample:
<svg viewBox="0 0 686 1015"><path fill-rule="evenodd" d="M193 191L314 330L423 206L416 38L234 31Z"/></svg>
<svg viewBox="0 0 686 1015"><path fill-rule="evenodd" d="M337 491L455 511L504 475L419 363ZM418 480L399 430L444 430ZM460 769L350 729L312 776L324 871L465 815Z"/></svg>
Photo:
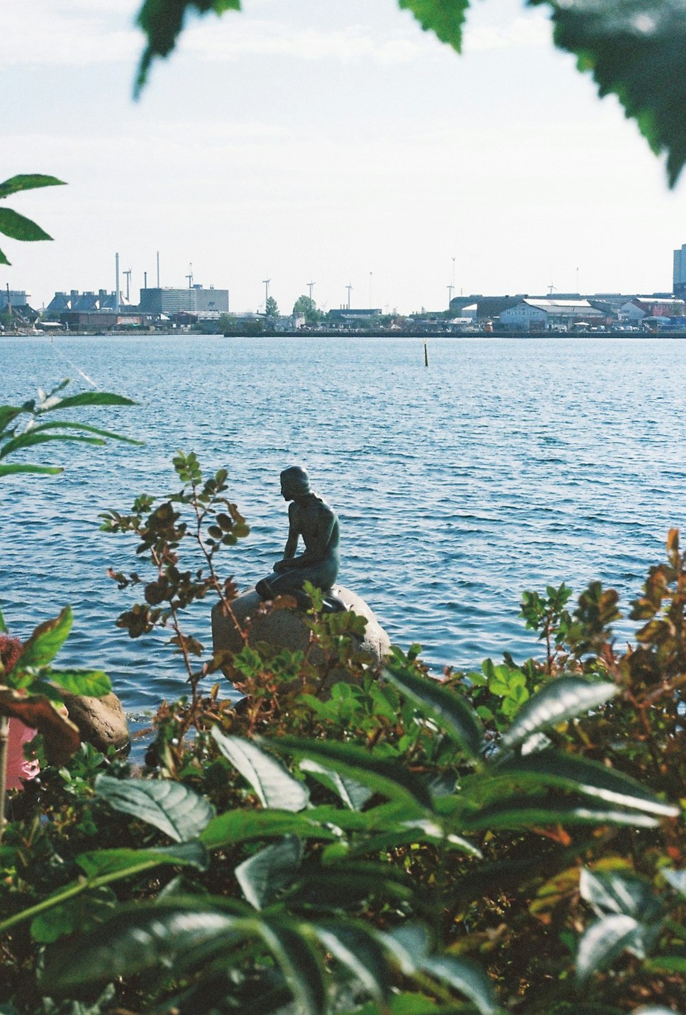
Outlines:
<svg viewBox="0 0 686 1015"><path fill-rule="evenodd" d="M330 595L341 562L339 550L338 517L329 504L313 493L304 469L292 465L281 473L281 494L288 505L288 539L283 559L277 560L274 570L255 586L261 599L276 596L293 596L298 606L307 607L310 600L302 592L305 582L326 594L325 608L344 610L346 607ZM302 536L304 550L295 556L297 542Z"/></svg>

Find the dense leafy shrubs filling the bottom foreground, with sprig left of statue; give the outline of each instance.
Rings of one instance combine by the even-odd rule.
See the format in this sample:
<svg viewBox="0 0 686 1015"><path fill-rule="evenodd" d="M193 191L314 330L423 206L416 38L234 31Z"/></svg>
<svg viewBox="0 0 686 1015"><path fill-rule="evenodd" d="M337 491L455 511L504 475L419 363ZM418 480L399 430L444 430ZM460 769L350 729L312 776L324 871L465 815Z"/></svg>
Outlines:
<svg viewBox="0 0 686 1015"><path fill-rule="evenodd" d="M684 1010L677 533L623 654L617 594L594 583L573 610L565 586L525 594L543 661L437 682L415 647L380 672L312 590L305 652L247 642L200 665L182 614L226 589L216 555L245 522L223 472L175 464L180 493L106 525L153 568L113 576L143 588L121 622L172 627L190 696L160 708L143 770L82 748L45 770L35 810L15 799L0 1011ZM187 546L207 577L182 568ZM325 700L333 665L351 683ZM235 707L206 686L219 666L247 695Z"/></svg>

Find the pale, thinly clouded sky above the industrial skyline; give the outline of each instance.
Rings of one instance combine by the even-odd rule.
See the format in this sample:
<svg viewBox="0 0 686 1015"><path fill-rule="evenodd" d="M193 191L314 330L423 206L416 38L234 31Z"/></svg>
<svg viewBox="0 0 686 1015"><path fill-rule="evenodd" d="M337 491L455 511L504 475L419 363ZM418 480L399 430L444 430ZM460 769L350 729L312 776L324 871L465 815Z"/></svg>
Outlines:
<svg viewBox="0 0 686 1015"><path fill-rule="evenodd" d="M135 0L0 0L0 179L53 243L2 238L0 286L227 288L231 311L442 310L461 292L668 291L686 243L613 96L546 9L476 0L457 55L395 0L244 0L193 18L140 99ZM684 174L686 180L686 173ZM191 267L192 266L192 267ZM121 276L126 291L126 281Z"/></svg>

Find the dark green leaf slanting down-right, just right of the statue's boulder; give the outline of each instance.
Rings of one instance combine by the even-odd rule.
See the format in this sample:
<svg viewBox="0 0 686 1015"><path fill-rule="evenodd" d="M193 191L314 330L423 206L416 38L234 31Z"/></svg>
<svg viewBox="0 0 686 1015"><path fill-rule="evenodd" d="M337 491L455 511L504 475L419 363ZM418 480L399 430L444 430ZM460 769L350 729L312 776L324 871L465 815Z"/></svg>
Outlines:
<svg viewBox="0 0 686 1015"><path fill-rule="evenodd" d="M388 668L384 670L384 676L399 687L423 716L433 719L469 757L476 759L479 756L483 727L464 698L437 680L420 677L410 669Z"/></svg>

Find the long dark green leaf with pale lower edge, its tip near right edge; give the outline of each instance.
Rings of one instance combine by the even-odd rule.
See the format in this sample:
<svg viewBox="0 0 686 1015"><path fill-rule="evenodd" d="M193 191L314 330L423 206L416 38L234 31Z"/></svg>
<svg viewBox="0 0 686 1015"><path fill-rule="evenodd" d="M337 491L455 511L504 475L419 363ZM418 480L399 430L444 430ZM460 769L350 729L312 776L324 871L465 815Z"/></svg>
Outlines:
<svg viewBox="0 0 686 1015"><path fill-rule="evenodd" d="M510 797L517 789L541 787L558 787L648 814L665 817L679 814L678 808L664 803L629 775L598 761L556 750L510 757L484 775L468 776L462 783L461 797L484 804Z"/></svg>

